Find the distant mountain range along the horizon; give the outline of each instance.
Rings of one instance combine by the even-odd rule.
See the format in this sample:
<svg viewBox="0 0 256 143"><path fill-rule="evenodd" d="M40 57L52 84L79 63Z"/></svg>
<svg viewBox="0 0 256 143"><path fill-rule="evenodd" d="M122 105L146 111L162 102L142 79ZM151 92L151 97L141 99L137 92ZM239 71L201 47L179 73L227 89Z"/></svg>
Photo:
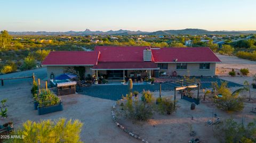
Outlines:
<svg viewBox="0 0 256 143"><path fill-rule="evenodd" d="M204 29L182 29L182 30L160 30L155 32L145 31L130 31L130 30L117 30L117 31L67 31L67 32L47 32L47 31L24 31L24 32L9 32L10 35L239 35L244 33L256 33L256 30L249 31L208 31Z"/></svg>

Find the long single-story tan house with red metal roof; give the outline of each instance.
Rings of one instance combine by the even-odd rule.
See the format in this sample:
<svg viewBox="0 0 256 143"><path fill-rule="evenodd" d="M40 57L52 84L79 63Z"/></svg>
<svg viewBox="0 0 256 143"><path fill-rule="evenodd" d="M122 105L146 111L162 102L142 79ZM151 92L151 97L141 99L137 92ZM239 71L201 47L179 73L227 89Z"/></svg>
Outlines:
<svg viewBox="0 0 256 143"><path fill-rule="evenodd" d="M208 47L150 48L150 46L95 46L94 51L50 52L42 65L49 79L66 69L83 66L85 77L107 75L125 77L163 77L177 75L213 76L221 62Z"/></svg>

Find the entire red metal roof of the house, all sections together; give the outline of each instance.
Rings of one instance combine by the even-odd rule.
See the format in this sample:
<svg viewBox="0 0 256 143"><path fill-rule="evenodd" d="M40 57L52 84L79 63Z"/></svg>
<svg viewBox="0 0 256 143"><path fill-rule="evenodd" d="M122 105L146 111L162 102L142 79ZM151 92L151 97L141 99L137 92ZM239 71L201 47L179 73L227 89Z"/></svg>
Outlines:
<svg viewBox="0 0 256 143"><path fill-rule="evenodd" d="M43 65L95 65L106 69L156 68L154 62L221 62L207 47L151 48L152 62L143 61L143 50L149 46L95 46L94 51L50 52ZM97 65L97 63L100 63ZM103 64L103 62L108 62ZM138 65L136 65L138 64ZM154 64L154 65L153 65ZM97 65L97 66L96 66Z"/></svg>

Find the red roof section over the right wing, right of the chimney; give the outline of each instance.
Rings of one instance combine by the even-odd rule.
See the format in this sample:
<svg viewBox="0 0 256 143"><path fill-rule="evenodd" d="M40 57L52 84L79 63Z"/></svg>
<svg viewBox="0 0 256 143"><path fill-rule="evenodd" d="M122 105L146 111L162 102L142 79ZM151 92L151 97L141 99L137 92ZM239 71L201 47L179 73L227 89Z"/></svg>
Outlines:
<svg viewBox="0 0 256 143"><path fill-rule="evenodd" d="M151 48L155 62L221 62L208 47Z"/></svg>

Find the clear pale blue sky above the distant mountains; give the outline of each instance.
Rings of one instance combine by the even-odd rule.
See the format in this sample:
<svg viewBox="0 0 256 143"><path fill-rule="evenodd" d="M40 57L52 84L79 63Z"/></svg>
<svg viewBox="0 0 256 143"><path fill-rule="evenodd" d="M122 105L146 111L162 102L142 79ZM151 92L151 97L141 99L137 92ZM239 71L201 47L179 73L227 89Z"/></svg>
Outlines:
<svg viewBox="0 0 256 143"><path fill-rule="evenodd" d="M256 30L255 0L0 1L0 30Z"/></svg>

